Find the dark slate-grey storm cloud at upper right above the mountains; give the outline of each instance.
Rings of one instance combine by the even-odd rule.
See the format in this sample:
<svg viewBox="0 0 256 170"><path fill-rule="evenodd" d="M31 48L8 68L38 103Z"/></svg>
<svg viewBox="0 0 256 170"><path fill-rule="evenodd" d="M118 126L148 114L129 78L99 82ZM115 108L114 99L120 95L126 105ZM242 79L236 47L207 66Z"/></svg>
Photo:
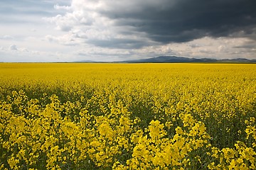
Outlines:
<svg viewBox="0 0 256 170"><path fill-rule="evenodd" d="M146 1L137 5L112 6L100 13L114 19L117 26L133 26L163 43L204 36L253 39L256 35L255 0L161 0L156 6Z"/></svg>

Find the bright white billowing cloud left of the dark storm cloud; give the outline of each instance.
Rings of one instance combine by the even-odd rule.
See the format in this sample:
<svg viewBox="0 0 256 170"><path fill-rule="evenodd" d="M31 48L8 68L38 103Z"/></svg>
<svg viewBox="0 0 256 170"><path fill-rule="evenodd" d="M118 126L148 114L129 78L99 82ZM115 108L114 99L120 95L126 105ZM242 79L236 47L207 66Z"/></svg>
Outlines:
<svg viewBox="0 0 256 170"><path fill-rule="evenodd" d="M108 2L109 4L107 4ZM135 43L132 47L152 43L149 38L146 38L145 33L137 33L132 26L115 26L114 20L102 15L100 11L107 9L110 4L112 4L111 6L122 5L114 1L73 0L72 4L68 6L68 9L71 10L65 15L44 19L55 23L56 29L67 32L63 37L70 37L72 34L73 40L81 44L89 43L99 47L114 48L118 43L118 47L127 48L131 42ZM61 42L60 38L57 39L56 42L66 44ZM56 38L48 37L48 40L56 40Z"/></svg>

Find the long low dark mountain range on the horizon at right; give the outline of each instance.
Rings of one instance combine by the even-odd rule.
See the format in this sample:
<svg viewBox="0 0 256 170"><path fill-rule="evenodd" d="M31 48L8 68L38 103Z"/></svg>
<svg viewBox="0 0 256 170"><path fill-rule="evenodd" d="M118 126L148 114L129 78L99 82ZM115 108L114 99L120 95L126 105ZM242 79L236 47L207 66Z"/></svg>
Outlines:
<svg viewBox="0 0 256 170"><path fill-rule="evenodd" d="M182 63L182 62L256 62L256 60L248 60L244 58L238 59L225 59L225 60L217 60L217 59L210 59L210 58L188 58L188 57L176 57L176 56L159 56L159 57L152 57L148 59L142 60L128 60L124 61L126 63Z"/></svg>

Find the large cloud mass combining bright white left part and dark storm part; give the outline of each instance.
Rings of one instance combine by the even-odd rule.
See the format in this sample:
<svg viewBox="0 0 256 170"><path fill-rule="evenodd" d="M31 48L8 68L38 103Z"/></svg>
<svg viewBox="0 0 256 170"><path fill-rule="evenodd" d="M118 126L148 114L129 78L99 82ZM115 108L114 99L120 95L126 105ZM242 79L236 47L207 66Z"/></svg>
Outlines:
<svg viewBox="0 0 256 170"><path fill-rule="evenodd" d="M255 0L73 0L63 6L65 15L46 21L79 30L83 42L98 47L138 49L203 37L256 40L255 6Z"/></svg>

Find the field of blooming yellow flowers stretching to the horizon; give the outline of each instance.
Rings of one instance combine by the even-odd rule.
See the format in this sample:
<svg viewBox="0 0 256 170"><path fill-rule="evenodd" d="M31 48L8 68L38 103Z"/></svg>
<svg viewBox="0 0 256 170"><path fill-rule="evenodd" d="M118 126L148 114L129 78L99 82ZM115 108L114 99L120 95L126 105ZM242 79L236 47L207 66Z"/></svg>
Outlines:
<svg viewBox="0 0 256 170"><path fill-rule="evenodd" d="M0 64L0 169L256 169L256 64Z"/></svg>

